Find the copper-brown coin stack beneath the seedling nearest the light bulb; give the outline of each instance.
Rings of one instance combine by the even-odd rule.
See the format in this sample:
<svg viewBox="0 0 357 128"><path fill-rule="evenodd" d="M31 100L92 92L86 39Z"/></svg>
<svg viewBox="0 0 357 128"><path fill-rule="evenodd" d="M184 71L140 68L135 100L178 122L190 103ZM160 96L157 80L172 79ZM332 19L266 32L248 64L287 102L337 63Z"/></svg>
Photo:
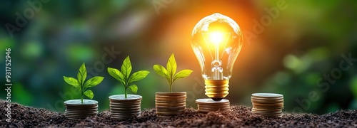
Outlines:
<svg viewBox="0 0 357 128"><path fill-rule="evenodd" d="M186 92L156 92L157 117L171 117L186 109Z"/></svg>

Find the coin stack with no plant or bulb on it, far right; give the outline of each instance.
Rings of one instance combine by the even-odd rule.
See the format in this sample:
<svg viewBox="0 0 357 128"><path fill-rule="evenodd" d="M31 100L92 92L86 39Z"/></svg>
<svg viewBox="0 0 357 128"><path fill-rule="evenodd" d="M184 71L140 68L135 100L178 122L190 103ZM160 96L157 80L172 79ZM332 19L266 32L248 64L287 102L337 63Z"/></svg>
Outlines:
<svg viewBox="0 0 357 128"><path fill-rule="evenodd" d="M265 117L281 117L283 114L283 95L275 93L253 93L251 95L253 108L251 112Z"/></svg>

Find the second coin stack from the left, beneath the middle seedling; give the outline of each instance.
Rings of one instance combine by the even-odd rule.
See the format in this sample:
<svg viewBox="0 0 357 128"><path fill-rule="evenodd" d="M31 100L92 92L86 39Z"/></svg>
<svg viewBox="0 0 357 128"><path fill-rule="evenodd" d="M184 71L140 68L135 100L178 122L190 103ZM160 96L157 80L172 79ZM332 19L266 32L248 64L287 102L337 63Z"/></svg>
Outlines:
<svg viewBox="0 0 357 128"><path fill-rule="evenodd" d="M141 114L141 99L140 95L111 95L110 112L112 119L131 119Z"/></svg>

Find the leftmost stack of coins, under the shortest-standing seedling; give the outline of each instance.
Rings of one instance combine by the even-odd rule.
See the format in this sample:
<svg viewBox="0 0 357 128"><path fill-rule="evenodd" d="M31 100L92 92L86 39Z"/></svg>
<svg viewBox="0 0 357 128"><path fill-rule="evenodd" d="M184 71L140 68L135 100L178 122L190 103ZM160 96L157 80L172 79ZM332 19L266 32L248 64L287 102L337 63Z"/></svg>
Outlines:
<svg viewBox="0 0 357 128"><path fill-rule="evenodd" d="M96 100L66 100L64 114L69 119L84 119L98 114L98 102Z"/></svg>

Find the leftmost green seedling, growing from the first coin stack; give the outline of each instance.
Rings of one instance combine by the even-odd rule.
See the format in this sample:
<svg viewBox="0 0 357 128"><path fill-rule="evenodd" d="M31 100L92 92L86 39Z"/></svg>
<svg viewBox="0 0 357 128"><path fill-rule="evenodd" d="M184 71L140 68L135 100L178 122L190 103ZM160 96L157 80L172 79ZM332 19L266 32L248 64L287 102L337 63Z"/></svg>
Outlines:
<svg viewBox="0 0 357 128"><path fill-rule="evenodd" d="M86 90L88 87L94 87L96 85L99 85L101 81L103 81L103 77L101 76L95 76L89 80L86 81L87 77L87 70L86 70L86 65L84 63L81 65L81 68L79 68L79 72L76 78L67 78L64 76L64 81L66 81L69 85L72 85L76 87L79 92L81 92L81 103L83 103L83 97L86 95L86 97L89 97L90 99L93 99L94 94L91 90Z"/></svg>

